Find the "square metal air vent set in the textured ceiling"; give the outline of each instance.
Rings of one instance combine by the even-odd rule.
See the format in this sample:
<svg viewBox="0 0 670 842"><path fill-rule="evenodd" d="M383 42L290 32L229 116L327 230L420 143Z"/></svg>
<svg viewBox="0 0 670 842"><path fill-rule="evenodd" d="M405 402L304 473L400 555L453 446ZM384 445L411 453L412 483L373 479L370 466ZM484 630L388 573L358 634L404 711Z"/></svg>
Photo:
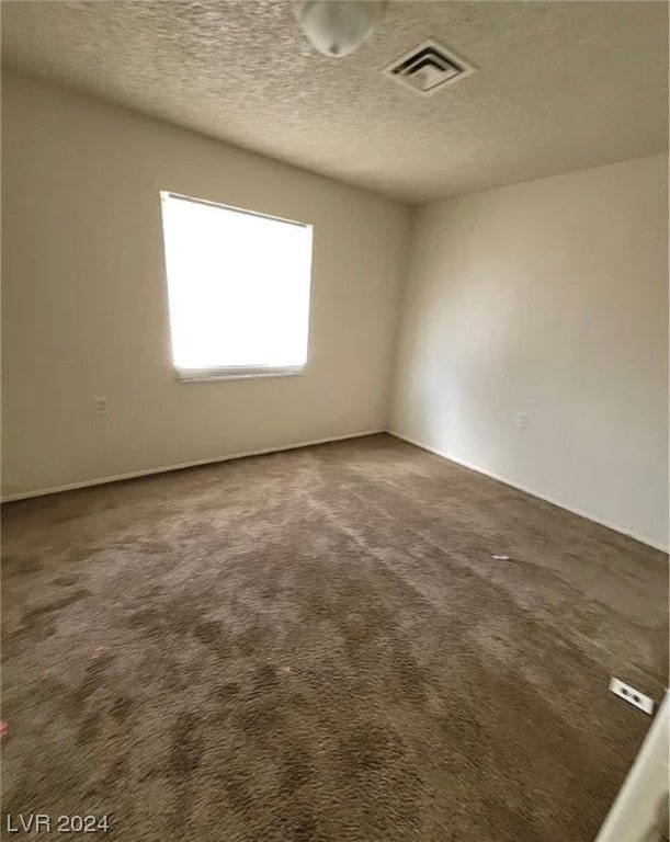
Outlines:
<svg viewBox="0 0 670 842"><path fill-rule="evenodd" d="M422 95L464 79L475 67L435 41L425 41L398 58L384 72Z"/></svg>

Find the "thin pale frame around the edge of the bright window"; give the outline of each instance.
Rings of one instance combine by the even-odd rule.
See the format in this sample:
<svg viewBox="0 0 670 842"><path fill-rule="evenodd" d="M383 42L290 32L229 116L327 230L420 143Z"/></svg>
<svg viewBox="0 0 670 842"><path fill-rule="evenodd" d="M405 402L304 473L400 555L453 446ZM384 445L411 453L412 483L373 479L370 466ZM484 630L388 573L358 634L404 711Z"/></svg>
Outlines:
<svg viewBox="0 0 670 842"><path fill-rule="evenodd" d="M172 357L172 318L170 311L170 280L168 277L168 257L167 257L167 243L166 243L166 228L163 223L163 202L169 198L177 198L182 202L194 202L200 205L211 205L213 207L232 210L238 214L247 214L248 216L258 216L262 219L271 219L276 223L285 223L286 225L296 225L298 228L306 228L309 230L309 247L310 247L310 272L309 272L309 306L307 308L307 359L302 365L222 365L222 366L207 366L202 368L180 368L174 364ZM197 198L195 196L189 196L184 193L175 193L172 190L160 190L160 224L161 224L161 239L163 246L163 268L166 280L166 292L168 295L168 335L170 341L170 356L172 357L172 371L174 377L180 383L207 383L212 380L241 380L241 379L255 379L263 377L295 377L304 374L309 364L309 340L310 340L310 326L311 326L311 278L314 269L314 226L310 223L302 223L297 219L288 219L282 216L275 216L274 214L263 214L260 210L249 210L246 207L236 207L235 205L226 205L223 202L214 202L207 198Z"/></svg>

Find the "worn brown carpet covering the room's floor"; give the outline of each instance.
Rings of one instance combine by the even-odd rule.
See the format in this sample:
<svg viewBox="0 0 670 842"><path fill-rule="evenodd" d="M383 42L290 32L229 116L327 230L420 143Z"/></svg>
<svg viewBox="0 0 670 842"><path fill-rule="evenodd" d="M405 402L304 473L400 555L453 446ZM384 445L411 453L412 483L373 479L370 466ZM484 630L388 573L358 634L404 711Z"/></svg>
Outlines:
<svg viewBox="0 0 670 842"><path fill-rule="evenodd" d="M607 678L667 682L666 556L388 435L8 504L3 553L2 811L87 838L591 842L650 722Z"/></svg>

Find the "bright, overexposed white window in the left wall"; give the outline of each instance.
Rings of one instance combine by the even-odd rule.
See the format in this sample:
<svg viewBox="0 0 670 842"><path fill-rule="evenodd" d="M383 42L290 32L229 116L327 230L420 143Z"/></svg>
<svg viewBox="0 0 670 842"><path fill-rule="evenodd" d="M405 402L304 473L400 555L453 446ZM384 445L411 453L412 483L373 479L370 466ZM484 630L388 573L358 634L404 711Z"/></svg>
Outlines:
<svg viewBox="0 0 670 842"><path fill-rule="evenodd" d="M172 360L184 379L307 362L311 226L161 192Z"/></svg>

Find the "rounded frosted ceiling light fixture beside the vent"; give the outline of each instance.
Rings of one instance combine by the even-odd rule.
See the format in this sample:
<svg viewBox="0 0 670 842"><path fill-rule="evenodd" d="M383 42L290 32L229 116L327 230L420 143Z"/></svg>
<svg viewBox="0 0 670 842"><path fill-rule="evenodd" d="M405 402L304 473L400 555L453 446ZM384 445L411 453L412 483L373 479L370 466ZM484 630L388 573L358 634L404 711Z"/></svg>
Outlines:
<svg viewBox="0 0 670 842"><path fill-rule="evenodd" d="M381 0L304 0L298 3L297 16L319 53L343 58L373 33L382 5Z"/></svg>

